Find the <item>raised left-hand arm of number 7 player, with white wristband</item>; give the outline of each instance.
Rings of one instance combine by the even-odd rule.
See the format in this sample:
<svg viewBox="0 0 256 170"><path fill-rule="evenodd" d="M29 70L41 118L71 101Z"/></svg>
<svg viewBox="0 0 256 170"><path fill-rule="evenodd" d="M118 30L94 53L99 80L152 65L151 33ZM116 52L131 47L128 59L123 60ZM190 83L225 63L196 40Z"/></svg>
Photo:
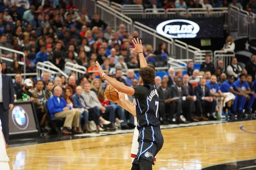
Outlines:
<svg viewBox="0 0 256 170"><path fill-rule="evenodd" d="M102 67L99 65L99 62L96 61L96 67L99 70L99 74L100 76L102 76L111 84L113 85L114 88L116 88L116 90L121 91L122 93L128 94L128 95L134 95L134 89L124 85L123 83L109 77L107 74L104 73Z"/></svg>

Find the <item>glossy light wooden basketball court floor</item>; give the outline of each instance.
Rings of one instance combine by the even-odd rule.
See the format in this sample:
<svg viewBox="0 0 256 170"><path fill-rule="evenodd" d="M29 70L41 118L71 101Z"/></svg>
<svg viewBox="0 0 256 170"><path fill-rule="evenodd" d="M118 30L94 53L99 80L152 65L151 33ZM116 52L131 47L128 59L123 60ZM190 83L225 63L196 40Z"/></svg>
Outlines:
<svg viewBox="0 0 256 170"><path fill-rule="evenodd" d="M163 129L154 170L256 170L256 120ZM11 147L11 170L130 170L133 133Z"/></svg>

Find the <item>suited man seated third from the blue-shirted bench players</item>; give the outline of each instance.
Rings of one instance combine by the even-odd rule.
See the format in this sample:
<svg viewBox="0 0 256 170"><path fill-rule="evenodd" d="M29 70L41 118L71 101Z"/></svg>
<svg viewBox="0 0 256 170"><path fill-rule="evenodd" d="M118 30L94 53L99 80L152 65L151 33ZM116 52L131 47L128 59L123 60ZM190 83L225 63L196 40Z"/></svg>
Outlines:
<svg viewBox="0 0 256 170"><path fill-rule="evenodd" d="M171 102L171 110L176 110L178 114L178 122L185 123L186 119L192 122L198 122L198 119L192 117L192 113L195 112L194 97L189 96L185 87L182 85L182 79L177 79L177 84L171 87L171 98L179 97L174 102ZM186 110L186 118L184 118L183 111Z"/></svg>

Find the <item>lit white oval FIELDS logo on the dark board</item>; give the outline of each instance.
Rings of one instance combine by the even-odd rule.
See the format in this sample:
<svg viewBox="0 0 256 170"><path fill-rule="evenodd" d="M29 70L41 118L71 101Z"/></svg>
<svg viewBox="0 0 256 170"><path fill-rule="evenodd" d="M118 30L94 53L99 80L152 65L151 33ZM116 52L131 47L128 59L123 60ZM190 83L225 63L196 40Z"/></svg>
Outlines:
<svg viewBox="0 0 256 170"><path fill-rule="evenodd" d="M168 20L157 26L157 32L169 38L195 38L199 30L198 24L189 20Z"/></svg>

